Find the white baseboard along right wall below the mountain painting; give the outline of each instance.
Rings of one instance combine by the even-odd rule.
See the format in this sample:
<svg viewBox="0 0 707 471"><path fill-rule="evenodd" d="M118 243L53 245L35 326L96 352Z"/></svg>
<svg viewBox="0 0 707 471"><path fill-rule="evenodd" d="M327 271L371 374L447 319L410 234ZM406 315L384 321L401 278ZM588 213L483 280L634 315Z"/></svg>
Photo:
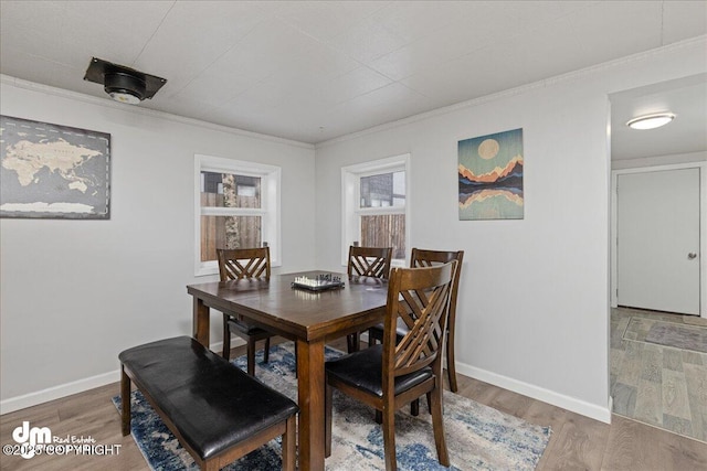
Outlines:
<svg viewBox="0 0 707 471"><path fill-rule="evenodd" d="M602 421L604 424L611 424L611 408L600 407L594 404L577 399L574 397L569 397L563 394L559 394L532 384L524 383L460 362L456 362L456 372L463 374L464 376L469 376L475 379L483 381L484 383L489 383L495 386L503 387L504 389L523 394L524 396L528 396L534 399L541 400L544 403L548 403L567 410L571 410L572 413L580 414L582 416Z"/></svg>

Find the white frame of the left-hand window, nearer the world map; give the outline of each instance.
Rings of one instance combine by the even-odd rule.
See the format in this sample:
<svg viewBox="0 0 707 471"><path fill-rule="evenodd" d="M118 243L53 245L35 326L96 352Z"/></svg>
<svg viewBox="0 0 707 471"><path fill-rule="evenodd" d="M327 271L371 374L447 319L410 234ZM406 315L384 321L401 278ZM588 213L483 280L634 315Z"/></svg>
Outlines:
<svg viewBox="0 0 707 471"><path fill-rule="evenodd" d="M261 207L201 207L201 172L233 173L261 179ZM217 275L215 260L201 261L201 216L261 216L261 240L270 247L272 266L281 266L279 167L194 154L194 276Z"/></svg>

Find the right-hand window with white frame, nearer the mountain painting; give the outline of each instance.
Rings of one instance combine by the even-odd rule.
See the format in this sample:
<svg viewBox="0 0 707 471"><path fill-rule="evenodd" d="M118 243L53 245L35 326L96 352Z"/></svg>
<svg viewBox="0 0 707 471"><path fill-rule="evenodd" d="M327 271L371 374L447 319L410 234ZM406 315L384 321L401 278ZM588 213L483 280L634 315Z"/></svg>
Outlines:
<svg viewBox="0 0 707 471"><path fill-rule="evenodd" d="M410 239L409 154L341 169L342 265L349 246L393 247L393 265L405 266Z"/></svg>

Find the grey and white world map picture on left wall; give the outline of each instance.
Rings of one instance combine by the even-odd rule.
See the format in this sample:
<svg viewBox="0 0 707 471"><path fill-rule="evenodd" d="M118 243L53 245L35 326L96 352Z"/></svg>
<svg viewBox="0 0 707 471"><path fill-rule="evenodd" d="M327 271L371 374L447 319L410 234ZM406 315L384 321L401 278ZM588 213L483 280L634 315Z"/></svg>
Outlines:
<svg viewBox="0 0 707 471"><path fill-rule="evenodd" d="M110 218L110 135L0 116L0 217Z"/></svg>

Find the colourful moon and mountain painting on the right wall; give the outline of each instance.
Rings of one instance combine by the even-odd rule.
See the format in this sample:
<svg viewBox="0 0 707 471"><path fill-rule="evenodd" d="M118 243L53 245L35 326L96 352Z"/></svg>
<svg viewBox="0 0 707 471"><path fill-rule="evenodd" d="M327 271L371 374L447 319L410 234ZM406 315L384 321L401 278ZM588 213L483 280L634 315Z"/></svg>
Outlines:
<svg viewBox="0 0 707 471"><path fill-rule="evenodd" d="M460 221L523 220L523 129L458 142Z"/></svg>

